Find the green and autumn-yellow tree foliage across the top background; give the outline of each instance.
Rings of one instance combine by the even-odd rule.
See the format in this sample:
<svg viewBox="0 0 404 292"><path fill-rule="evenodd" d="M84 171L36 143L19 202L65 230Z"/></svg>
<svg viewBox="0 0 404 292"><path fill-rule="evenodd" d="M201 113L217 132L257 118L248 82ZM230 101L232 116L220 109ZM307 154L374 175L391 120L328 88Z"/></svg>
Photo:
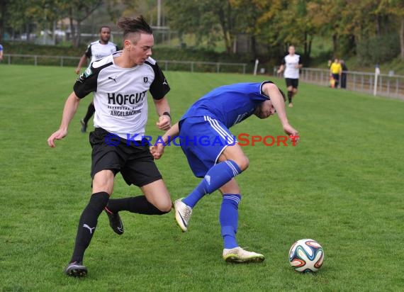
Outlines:
<svg viewBox="0 0 404 292"><path fill-rule="evenodd" d="M3 1L2 3L7 5L0 6L4 10L1 11L0 17L7 33L11 35L28 33L34 28L50 29L54 21L69 16L78 23L77 30L75 26L71 27L72 35L75 35L72 44L78 46L81 24L105 22L106 19L115 23L119 16L142 13L152 25L156 25L156 2ZM404 23L403 3L400 0L167 0L162 1L162 25L179 33L179 46L185 46L186 34L192 34L196 47L215 50L219 43L229 55L240 50L240 47L248 47L252 59L259 58L263 62L279 60L286 47L293 44L305 64L309 64L313 56L312 45L318 38L328 38L332 41L330 55L333 56L353 56L359 51L362 54L371 50L364 47L370 38L388 38L388 45L393 48L387 47L383 41L376 41L377 45L382 46L383 52L364 53L364 57L359 56L367 62L368 55L371 55L371 59L394 58L393 52L398 45L401 46L401 57L404 58L404 26L401 26L401 22ZM95 20L89 20L90 15L95 15ZM0 32L1 29L4 30L0 27ZM396 40L389 36L393 34L401 35L401 41L391 43ZM237 41L242 38L247 41L237 49L237 45L240 45Z"/></svg>

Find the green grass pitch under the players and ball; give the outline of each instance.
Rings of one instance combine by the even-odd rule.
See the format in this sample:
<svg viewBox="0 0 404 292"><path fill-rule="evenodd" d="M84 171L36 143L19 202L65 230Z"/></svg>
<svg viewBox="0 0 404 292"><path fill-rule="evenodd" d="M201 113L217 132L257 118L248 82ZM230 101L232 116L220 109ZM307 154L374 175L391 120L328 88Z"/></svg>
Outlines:
<svg viewBox="0 0 404 292"><path fill-rule="evenodd" d="M173 120L215 86L262 81L238 74L166 72ZM262 264L221 258L220 194L206 196L181 233L174 213L122 213L125 234L105 214L84 264L85 279L62 273L79 215L89 199L91 148L80 133L86 97L68 136L47 147L77 76L73 68L0 66L0 291L399 291L403 289L404 102L301 84L291 125L298 146L243 147L250 166L242 189L242 247L266 256ZM285 89L283 79L274 79ZM157 137L150 102L147 134ZM249 118L232 133L284 135L276 116ZM172 199L198 183L179 147L157 162ZM116 178L113 197L140 191ZM295 240L313 238L325 250L317 274L288 263ZM402 291L402 290L401 290Z"/></svg>

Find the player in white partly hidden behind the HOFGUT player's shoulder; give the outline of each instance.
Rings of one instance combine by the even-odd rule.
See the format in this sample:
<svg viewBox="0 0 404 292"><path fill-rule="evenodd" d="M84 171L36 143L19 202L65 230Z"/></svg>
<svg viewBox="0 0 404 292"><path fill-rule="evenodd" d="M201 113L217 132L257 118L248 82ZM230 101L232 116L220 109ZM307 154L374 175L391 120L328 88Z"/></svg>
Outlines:
<svg viewBox="0 0 404 292"><path fill-rule="evenodd" d="M99 40L96 40L95 42L90 43L87 46L86 52L84 52L79 60L77 68L74 70L76 74L80 73L80 70L82 69L87 59L89 59L90 63L92 63L95 60L99 60L119 50L116 44L109 41L109 39L111 38L111 28L109 26L101 26L99 30L99 37ZM87 123L89 123L89 120L91 116L93 116L94 111L96 111L94 108L94 103L93 101L91 101L89 107L87 108L86 116L84 116L84 118L80 120L80 123L82 124L82 133L86 133Z"/></svg>

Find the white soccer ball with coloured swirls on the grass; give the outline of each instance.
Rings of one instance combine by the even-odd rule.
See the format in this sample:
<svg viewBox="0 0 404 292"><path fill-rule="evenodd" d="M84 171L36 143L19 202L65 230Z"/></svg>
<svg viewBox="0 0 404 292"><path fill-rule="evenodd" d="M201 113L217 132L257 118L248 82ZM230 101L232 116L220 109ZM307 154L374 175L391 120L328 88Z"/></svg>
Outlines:
<svg viewBox="0 0 404 292"><path fill-rule="evenodd" d="M324 250L315 240L304 239L293 243L289 249L289 263L296 271L318 271L324 260Z"/></svg>

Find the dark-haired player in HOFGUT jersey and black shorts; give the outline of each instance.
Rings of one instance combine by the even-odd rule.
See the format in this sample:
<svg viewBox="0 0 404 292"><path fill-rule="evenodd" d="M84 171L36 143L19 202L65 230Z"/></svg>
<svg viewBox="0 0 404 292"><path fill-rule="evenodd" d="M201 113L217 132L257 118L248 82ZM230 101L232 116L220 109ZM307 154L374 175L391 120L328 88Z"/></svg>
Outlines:
<svg viewBox="0 0 404 292"><path fill-rule="evenodd" d="M59 130L47 139L48 145L55 147L55 140L67 135L80 100L95 92L95 130L89 136L92 194L79 220L72 259L64 270L68 276L86 276L84 252L103 210L113 231L121 235L120 210L162 215L172 208L149 144L142 140L147 123L147 91L150 91L159 115L157 127L160 130L171 127L169 103L165 97L169 84L157 62L150 57L154 38L145 19L142 16L123 18L118 27L123 30L123 50L92 62L80 75L64 104ZM128 185L138 186L143 195L110 199L118 172Z"/></svg>

